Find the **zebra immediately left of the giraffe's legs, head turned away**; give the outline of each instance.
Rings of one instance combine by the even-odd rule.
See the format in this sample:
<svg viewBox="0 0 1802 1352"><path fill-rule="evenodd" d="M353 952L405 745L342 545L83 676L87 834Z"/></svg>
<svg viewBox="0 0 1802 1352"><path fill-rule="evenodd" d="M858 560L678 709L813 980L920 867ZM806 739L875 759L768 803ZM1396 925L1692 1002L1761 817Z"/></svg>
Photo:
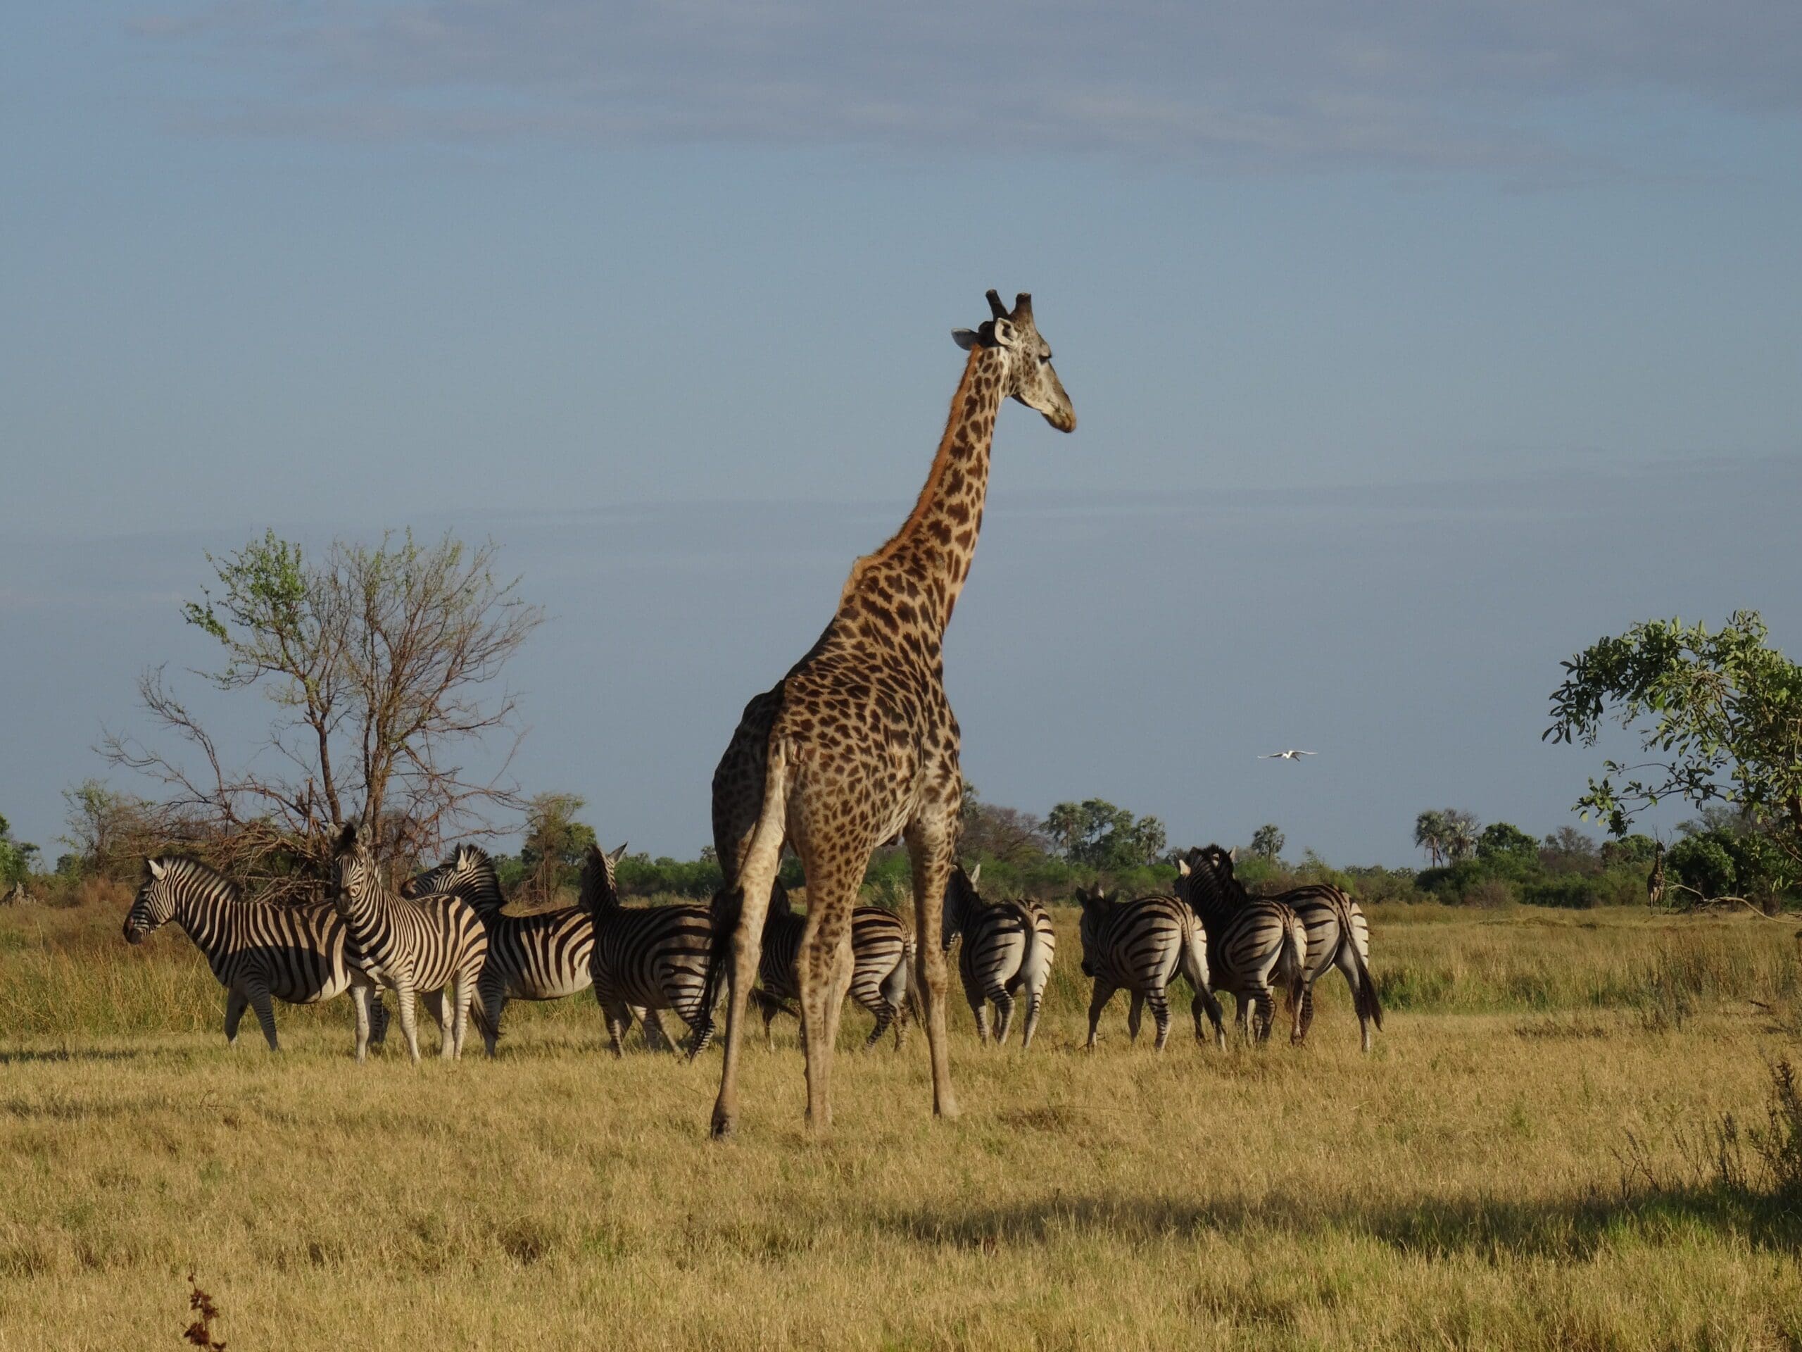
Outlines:
<svg viewBox="0 0 1802 1352"><path fill-rule="evenodd" d="M623 851L623 845L622 845ZM589 970L595 999L607 1020L613 1055L623 1056L620 1040L633 1026L634 1009L647 1011L645 1040L656 1028L656 1009L674 1009L688 1026L688 1060L714 1040L714 986L708 966L714 946L714 916L706 907L623 907L614 885L616 854L587 847L582 863L582 909L595 927Z"/></svg>

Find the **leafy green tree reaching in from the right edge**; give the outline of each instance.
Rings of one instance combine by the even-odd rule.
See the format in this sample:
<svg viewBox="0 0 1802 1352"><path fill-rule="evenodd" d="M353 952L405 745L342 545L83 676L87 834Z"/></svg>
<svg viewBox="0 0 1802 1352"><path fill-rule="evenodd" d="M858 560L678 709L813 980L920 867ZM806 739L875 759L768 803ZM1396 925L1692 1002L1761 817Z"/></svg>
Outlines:
<svg viewBox="0 0 1802 1352"><path fill-rule="evenodd" d="M1624 836L1661 799L1728 802L1770 833L1784 880L1802 872L1802 665L1766 640L1757 611L1717 631L1647 620L1562 663L1543 737L1595 746L1613 721L1649 757L1606 759L1577 808Z"/></svg>

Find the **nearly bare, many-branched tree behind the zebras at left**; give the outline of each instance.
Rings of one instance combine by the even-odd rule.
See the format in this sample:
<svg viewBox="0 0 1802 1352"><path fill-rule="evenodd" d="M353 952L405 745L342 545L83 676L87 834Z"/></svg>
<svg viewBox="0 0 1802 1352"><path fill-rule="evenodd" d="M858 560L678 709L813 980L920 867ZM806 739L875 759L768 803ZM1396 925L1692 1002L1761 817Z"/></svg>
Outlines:
<svg viewBox="0 0 1802 1352"><path fill-rule="evenodd" d="M241 763L168 683L139 678L168 748L106 732L101 754L162 784L169 835L205 842L261 891L310 891L330 862L335 822L360 818L400 860L436 854L452 833L492 833L488 813L519 809L508 764L517 705L497 689L506 660L542 613L494 575L496 544L413 532L377 546L335 541L319 561L267 532L214 559L218 593L182 618L225 651L193 672L218 690L261 690L268 734ZM505 737L499 768L463 755ZM178 827L178 829L177 829Z"/></svg>

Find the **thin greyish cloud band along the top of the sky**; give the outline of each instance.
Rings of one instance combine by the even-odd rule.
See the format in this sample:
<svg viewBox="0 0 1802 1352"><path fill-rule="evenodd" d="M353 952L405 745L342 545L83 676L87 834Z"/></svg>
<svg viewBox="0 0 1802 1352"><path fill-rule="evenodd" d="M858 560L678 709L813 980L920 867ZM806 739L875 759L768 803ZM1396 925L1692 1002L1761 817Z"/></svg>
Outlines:
<svg viewBox="0 0 1802 1352"><path fill-rule="evenodd" d="M330 0L141 18L205 132L1106 153L1568 173L1561 101L1802 112L1793 0L908 5Z"/></svg>

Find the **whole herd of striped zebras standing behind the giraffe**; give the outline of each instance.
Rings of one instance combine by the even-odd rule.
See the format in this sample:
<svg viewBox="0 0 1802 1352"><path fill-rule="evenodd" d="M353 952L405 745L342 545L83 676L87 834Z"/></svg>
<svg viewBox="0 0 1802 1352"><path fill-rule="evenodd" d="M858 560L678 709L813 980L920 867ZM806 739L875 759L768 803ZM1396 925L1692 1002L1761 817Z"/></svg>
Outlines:
<svg viewBox="0 0 1802 1352"><path fill-rule="evenodd" d="M593 986L614 1055L623 1055L634 1022L647 1046L676 1051L660 1019L670 1009L688 1029L688 1056L697 1056L714 1038L726 927L715 925L714 909L705 905L623 905L614 880L623 853L625 845L611 854L589 845L577 905L530 914L505 910L494 863L476 845L460 845L395 892L355 826L342 827L337 838L332 898L301 907L245 900L229 878L187 856L151 858L124 937L141 943L169 921L180 925L227 991L229 1042L236 1042L250 1008L270 1049L279 1049L274 1000L312 1004L350 991L360 1062L386 1035L380 991L387 988L414 1062L414 997L438 1022L445 1058L461 1055L472 1015L492 1056L508 1000L557 1000ZM1301 1042L1314 1019L1314 981L1337 966L1352 988L1362 1047L1370 1051L1371 1026L1382 1028L1382 1006L1370 977L1362 909L1326 883L1252 896L1233 863L1231 853L1209 845L1179 860L1171 894L1119 901L1099 887L1078 892L1081 970L1094 981L1088 1049L1108 1000L1124 990L1132 1000L1130 1035L1137 1038L1150 1006L1162 1051L1169 1038L1168 990L1179 975L1195 995L1197 1040L1206 1042L1206 1013L1216 1046L1225 1046L1216 991L1236 999L1247 1037L1269 1038L1272 993L1283 990L1290 1038ZM944 948L962 939L959 975L977 1037L1004 1044L1024 997L1020 1040L1031 1047L1056 954L1051 910L1036 900L986 901L977 891L980 876L980 865L951 871ZM766 1038L778 1013L795 1013L805 925L778 883L753 993ZM908 1020L917 1017L919 964L908 927L888 910L858 907L852 957L851 997L876 1019L865 1047L890 1028L901 1046Z"/></svg>

